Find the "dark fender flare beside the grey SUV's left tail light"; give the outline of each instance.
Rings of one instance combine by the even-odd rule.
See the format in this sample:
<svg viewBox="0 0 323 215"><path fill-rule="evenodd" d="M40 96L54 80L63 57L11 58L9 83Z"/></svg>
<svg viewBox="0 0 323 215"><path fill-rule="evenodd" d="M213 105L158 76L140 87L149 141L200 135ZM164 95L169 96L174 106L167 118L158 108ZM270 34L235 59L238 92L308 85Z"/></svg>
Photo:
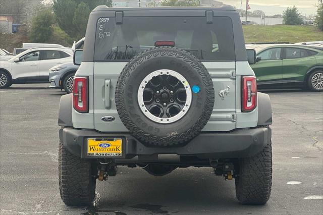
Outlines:
<svg viewBox="0 0 323 215"><path fill-rule="evenodd" d="M63 95L60 100L59 122L60 126L73 127L72 123L72 93Z"/></svg>

